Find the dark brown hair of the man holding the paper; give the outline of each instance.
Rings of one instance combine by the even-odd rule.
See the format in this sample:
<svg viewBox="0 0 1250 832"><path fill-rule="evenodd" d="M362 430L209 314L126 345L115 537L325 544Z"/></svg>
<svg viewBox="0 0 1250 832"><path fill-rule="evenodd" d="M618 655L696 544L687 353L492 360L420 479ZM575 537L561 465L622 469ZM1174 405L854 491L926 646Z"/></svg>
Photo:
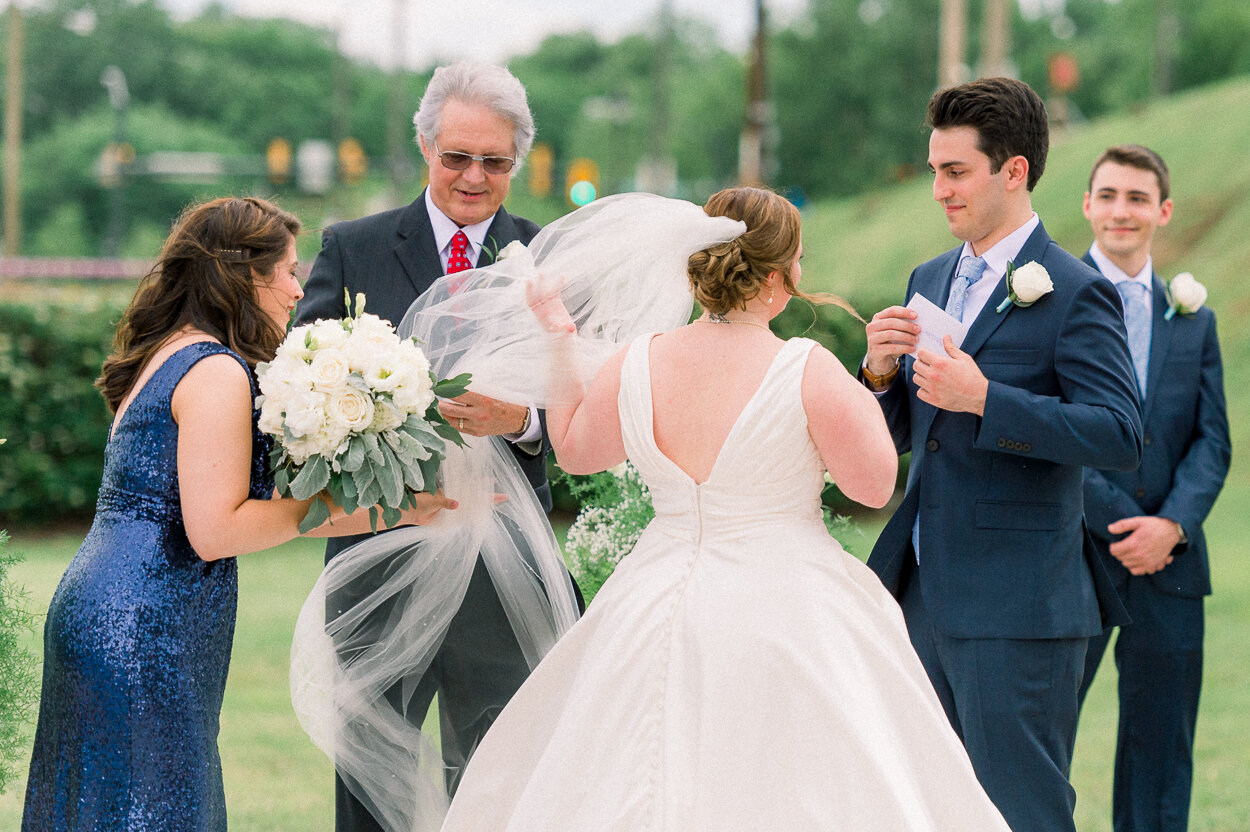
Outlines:
<svg viewBox="0 0 1250 832"><path fill-rule="evenodd" d="M1024 156L1029 162L1030 191L1046 170L1050 150L1046 105L1024 81L985 77L940 90L929 99L928 122L934 130L976 130L976 146L990 157L991 174L999 172L1012 156Z"/></svg>

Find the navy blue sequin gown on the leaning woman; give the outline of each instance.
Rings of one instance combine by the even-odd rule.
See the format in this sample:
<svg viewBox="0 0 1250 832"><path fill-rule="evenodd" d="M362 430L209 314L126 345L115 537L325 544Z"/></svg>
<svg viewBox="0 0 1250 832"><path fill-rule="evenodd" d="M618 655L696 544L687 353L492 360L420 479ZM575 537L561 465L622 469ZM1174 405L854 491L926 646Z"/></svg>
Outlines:
<svg viewBox="0 0 1250 832"><path fill-rule="evenodd" d="M239 357L199 342L166 359L109 440L95 522L48 611L24 832L226 828L218 717L238 567L186 538L170 414L186 371L218 354ZM271 493L268 451L254 428L252 497Z"/></svg>

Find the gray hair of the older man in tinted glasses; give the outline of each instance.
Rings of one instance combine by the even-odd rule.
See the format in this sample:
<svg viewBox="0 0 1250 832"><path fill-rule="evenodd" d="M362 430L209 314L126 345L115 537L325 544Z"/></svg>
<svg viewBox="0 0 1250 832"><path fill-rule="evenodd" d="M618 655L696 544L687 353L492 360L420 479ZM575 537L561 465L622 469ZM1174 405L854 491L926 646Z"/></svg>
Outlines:
<svg viewBox="0 0 1250 832"><path fill-rule="evenodd" d="M512 124L512 149L518 166L534 144L534 116L525 87L505 66L456 62L434 70L421 105L412 116L416 135L432 146L439 135L442 106L451 99L476 104ZM515 174L516 167L512 167Z"/></svg>

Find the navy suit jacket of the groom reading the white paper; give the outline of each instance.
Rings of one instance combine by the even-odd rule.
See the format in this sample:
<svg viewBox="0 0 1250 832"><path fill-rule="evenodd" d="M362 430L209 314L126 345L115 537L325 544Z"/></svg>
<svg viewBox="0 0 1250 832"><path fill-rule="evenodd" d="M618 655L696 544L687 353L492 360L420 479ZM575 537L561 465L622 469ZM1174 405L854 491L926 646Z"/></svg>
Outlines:
<svg viewBox="0 0 1250 832"><path fill-rule="evenodd" d="M960 249L911 272L944 306ZM919 580L934 625L956 638L1078 638L1125 620L1082 522L1082 466L1129 470L1141 453L1119 292L1039 225L1015 264L1040 262L1054 291L1009 306L999 281L961 349L989 380L985 415L916 397L912 359L880 396L899 453L902 505L869 566L895 595L920 512Z"/></svg>

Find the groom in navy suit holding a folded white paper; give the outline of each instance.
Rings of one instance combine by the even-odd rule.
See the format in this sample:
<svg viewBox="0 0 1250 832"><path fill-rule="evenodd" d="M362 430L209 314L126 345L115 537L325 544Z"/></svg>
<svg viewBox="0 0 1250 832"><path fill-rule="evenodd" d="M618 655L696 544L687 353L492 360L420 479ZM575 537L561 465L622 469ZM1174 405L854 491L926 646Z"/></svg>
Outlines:
<svg viewBox="0 0 1250 832"><path fill-rule="evenodd" d="M899 598L1011 830L1072 831L1086 645L1124 621L1085 532L1081 471L1131 470L1141 453L1120 300L1032 211L1049 129L1028 85L942 90L929 124L934 199L964 244L918 266L906 297L922 295L969 329L962 344L945 336L940 351L912 356L915 312L891 306L868 325L861 377L899 453L911 452L906 493L869 566ZM1009 264L1021 267L1014 292Z"/></svg>

